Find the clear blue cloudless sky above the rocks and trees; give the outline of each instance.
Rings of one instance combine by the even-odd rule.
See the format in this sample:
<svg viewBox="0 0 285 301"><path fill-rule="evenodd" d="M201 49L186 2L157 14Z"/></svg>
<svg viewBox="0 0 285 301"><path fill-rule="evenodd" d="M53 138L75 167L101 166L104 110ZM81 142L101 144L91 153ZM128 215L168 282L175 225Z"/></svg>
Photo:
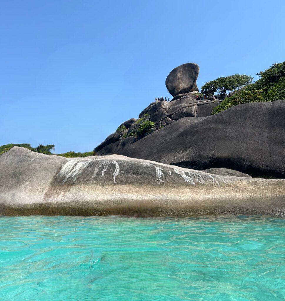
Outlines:
<svg viewBox="0 0 285 301"><path fill-rule="evenodd" d="M0 2L0 145L92 151L199 64L199 88L285 60L285 1Z"/></svg>

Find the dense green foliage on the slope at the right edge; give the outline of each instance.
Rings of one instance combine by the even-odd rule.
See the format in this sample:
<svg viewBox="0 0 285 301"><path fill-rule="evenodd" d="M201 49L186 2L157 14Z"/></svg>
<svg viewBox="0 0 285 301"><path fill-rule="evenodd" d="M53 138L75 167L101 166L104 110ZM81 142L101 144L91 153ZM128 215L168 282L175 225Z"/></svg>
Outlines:
<svg viewBox="0 0 285 301"><path fill-rule="evenodd" d="M243 84L246 86L215 107L212 115L238 104L285 99L285 62L273 64L269 69L257 75L260 79L253 84L248 84L251 78L245 76Z"/></svg>

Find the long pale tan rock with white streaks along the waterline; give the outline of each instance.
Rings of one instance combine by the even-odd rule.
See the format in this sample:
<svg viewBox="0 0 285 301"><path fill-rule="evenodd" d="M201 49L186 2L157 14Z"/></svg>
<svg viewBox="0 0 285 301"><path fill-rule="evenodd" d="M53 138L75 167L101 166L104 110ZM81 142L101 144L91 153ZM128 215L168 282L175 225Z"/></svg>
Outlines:
<svg viewBox="0 0 285 301"><path fill-rule="evenodd" d="M13 147L0 156L2 215L284 216L284 194L285 180L211 175L119 155L64 158Z"/></svg>

